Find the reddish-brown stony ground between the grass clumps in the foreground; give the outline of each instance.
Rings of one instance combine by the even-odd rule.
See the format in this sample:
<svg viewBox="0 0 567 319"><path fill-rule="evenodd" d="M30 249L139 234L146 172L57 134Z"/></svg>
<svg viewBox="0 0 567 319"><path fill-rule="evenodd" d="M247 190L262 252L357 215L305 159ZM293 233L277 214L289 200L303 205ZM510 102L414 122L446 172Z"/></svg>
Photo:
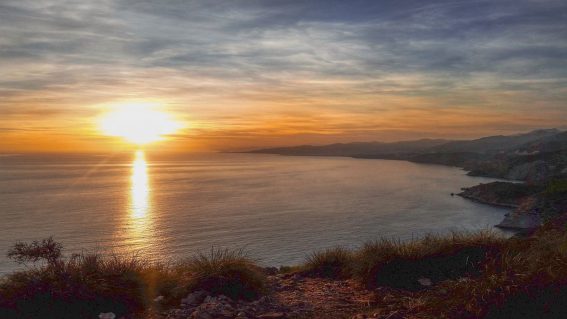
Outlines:
<svg viewBox="0 0 567 319"><path fill-rule="evenodd" d="M197 291L184 298L167 319L278 319L278 318L366 318L375 305L376 291L368 291L352 280L308 278L298 274L269 277L271 291L256 301L235 301ZM384 296L382 296L384 297ZM379 313L369 317L382 318Z"/></svg>

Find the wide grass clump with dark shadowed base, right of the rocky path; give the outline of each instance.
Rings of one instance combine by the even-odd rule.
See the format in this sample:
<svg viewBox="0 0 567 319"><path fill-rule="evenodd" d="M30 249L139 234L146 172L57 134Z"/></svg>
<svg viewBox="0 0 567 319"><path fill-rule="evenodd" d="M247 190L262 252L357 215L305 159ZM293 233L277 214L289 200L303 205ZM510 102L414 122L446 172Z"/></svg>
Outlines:
<svg viewBox="0 0 567 319"><path fill-rule="evenodd" d="M355 277L367 288L424 288L423 279L437 283L477 276L483 263L500 251L505 239L492 232L428 235L400 242L382 239L366 243L356 253Z"/></svg>

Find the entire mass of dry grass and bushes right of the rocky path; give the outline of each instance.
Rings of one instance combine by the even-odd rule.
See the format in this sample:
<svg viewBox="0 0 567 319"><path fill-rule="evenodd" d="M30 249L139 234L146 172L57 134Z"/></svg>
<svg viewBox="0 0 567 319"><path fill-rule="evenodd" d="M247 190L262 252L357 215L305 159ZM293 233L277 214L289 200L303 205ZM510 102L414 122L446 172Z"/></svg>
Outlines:
<svg viewBox="0 0 567 319"><path fill-rule="evenodd" d="M416 319L567 314L567 234L551 227L525 238L477 232L410 242L378 240L350 253L336 249L313 256L304 269L350 273L369 289L393 288L387 301L378 295L378 308L370 313L393 309L395 318Z"/></svg>

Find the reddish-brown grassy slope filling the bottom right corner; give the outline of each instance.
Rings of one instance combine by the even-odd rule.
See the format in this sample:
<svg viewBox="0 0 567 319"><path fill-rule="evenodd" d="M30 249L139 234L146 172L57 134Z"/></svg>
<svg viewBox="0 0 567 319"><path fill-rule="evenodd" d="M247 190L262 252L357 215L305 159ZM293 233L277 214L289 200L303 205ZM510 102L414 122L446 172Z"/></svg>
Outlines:
<svg viewBox="0 0 567 319"><path fill-rule="evenodd" d="M511 239L479 276L440 283L411 304L407 318L566 318L567 234Z"/></svg>

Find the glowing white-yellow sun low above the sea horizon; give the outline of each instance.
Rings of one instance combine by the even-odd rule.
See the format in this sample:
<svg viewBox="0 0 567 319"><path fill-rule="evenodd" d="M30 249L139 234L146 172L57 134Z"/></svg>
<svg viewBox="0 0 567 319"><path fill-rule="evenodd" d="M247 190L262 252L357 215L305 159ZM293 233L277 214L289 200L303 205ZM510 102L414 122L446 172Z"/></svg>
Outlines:
<svg viewBox="0 0 567 319"><path fill-rule="evenodd" d="M144 145L162 140L181 128L173 117L149 103L121 104L100 118L101 131L109 136Z"/></svg>

